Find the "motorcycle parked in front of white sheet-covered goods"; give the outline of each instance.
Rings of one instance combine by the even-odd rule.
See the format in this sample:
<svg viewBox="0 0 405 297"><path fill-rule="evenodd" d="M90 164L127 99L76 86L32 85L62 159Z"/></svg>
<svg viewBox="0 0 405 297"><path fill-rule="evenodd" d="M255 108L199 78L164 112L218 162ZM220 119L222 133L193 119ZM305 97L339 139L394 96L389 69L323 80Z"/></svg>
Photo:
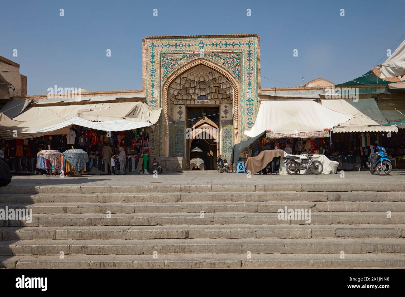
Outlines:
<svg viewBox="0 0 405 297"><path fill-rule="evenodd" d="M312 174L321 174L324 171L324 166L320 161L314 161L312 158L313 154L310 151L307 151L301 156L291 156L288 155L283 157L286 163L286 171L290 175L296 175L300 170L311 171Z"/></svg>

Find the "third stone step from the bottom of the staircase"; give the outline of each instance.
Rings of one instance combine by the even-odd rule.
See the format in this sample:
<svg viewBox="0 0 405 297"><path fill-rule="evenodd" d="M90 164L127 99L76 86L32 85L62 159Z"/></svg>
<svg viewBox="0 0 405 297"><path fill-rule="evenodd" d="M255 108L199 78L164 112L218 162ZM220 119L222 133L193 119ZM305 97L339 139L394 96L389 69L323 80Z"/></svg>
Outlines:
<svg viewBox="0 0 405 297"><path fill-rule="evenodd" d="M0 240L403 237L405 224L0 227Z"/></svg>

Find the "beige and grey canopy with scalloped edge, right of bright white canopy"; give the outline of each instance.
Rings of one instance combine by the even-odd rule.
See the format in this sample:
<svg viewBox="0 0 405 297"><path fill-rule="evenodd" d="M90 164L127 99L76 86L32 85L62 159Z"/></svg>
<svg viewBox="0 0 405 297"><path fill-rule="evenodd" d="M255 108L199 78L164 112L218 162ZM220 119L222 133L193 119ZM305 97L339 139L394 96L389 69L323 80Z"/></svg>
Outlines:
<svg viewBox="0 0 405 297"><path fill-rule="evenodd" d="M354 116L347 122L333 128L334 133L340 132L398 132L394 125L376 127L380 124L388 124L380 112L373 98L359 99L329 99L322 100L322 105L336 112Z"/></svg>

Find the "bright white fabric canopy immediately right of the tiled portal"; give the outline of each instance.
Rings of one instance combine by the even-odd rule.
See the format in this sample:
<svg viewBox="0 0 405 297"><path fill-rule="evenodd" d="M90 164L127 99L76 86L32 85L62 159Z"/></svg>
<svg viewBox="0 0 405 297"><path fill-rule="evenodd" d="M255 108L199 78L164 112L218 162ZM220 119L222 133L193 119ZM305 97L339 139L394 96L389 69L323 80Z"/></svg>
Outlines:
<svg viewBox="0 0 405 297"><path fill-rule="evenodd" d="M245 135L267 131L268 137L276 138L326 137L330 129L351 118L312 100L263 100L254 126Z"/></svg>

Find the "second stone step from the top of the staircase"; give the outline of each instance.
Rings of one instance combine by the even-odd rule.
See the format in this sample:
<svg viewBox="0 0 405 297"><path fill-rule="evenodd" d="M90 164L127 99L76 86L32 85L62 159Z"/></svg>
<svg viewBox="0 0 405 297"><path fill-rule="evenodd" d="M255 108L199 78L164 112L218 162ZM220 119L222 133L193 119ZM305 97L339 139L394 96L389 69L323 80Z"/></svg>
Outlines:
<svg viewBox="0 0 405 297"><path fill-rule="evenodd" d="M0 188L1 189L1 188ZM138 203L138 202L271 202L271 201L405 201L405 192L200 192L137 194L0 194L2 204L21 203Z"/></svg>

